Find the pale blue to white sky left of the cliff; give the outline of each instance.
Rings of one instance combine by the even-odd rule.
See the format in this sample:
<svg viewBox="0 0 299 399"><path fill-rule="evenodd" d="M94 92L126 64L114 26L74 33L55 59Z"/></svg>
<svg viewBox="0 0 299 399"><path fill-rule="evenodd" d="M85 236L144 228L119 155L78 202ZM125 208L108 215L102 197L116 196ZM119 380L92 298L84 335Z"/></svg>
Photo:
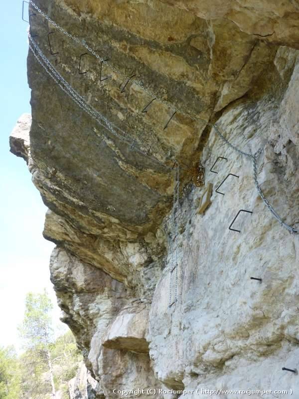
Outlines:
<svg viewBox="0 0 299 399"><path fill-rule="evenodd" d="M9 152L8 137L17 119L30 113L26 76L27 24L21 18L22 1L1 4L0 61L0 345L19 346L16 327L22 320L28 291L47 288L55 295L49 274L54 244L42 237L46 207L31 183L26 163ZM56 301L55 301L56 305ZM53 317L58 322L55 306Z"/></svg>

